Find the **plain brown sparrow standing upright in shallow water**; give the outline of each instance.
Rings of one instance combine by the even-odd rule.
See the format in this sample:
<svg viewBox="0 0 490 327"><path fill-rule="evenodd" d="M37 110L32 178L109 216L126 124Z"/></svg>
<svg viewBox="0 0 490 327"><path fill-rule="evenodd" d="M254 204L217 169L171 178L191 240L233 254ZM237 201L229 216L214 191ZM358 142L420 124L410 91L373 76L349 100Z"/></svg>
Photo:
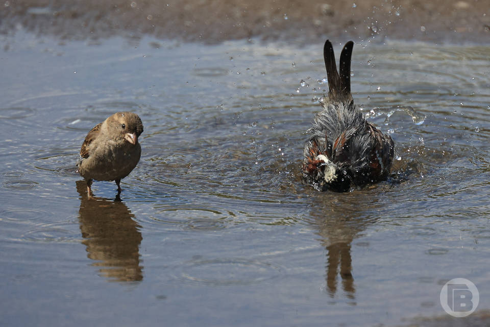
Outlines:
<svg viewBox="0 0 490 327"><path fill-rule="evenodd" d="M142 132L141 119L133 112L116 112L88 132L77 163L78 172L87 181L88 197L92 195L94 179L114 180L118 194L121 192L121 179L138 164L138 137Z"/></svg>

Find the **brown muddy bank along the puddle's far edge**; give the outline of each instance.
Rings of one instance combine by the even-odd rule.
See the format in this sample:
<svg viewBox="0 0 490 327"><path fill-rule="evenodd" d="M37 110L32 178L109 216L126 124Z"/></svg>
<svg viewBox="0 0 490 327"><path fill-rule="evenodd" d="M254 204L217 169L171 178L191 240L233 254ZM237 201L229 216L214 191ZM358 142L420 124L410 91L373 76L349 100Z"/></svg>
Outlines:
<svg viewBox="0 0 490 327"><path fill-rule="evenodd" d="M339 36L376 41L490 39L487 0L7 0L2 7L3 33L23 27L68 39L143 34L206 43L256 37L301 43Z"/></svg>

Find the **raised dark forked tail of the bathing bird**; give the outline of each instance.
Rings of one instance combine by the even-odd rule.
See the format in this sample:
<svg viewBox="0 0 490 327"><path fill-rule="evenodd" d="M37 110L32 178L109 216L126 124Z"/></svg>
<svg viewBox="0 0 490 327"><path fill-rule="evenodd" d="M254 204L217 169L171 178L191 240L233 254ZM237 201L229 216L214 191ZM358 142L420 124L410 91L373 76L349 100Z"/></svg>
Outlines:
<svg viewBox="0 0 490 327"><path fill-rule="evenodd" d="M344 45L344 49L342 49L342 52L340 53L340 74L337 72L332 43L327 40L323 47L323 57L325 59L325 68L327 69L328 97L331 101L347 103L352 101L351 57L353 46L354 42L347 42L346 45Z"/></svg>

